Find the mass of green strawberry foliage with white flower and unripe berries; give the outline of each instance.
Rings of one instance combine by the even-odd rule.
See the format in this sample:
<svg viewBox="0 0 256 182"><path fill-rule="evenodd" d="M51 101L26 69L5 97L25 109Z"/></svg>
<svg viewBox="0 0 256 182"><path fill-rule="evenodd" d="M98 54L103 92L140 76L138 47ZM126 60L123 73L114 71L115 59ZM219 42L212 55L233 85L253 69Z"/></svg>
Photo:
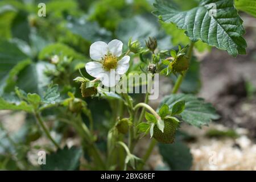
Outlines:
<svg viewBox="0 0 256 182"><path fill-rule="evenodd" d="M154 147L168 169L191 167L180 127L220 118L196 96L195 51L245 55L240 12L256 3L149 2L46 1L46 16L38 1L0 2L0 110L25 117L16 133L0 125L0 169L140 170Z"/></svg>

